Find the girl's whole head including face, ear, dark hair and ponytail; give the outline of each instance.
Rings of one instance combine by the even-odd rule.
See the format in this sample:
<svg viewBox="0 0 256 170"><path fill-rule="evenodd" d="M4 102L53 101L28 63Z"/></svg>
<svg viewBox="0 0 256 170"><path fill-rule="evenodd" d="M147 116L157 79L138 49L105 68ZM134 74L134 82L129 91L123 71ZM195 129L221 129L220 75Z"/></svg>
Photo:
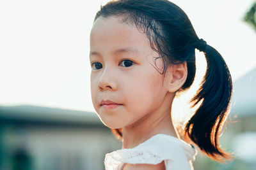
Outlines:
<svg viewBox="0 0 256 170"><path fill-rule="evenodd" d="M218 134L232 94L230 73L220 53L198 39L178 6L165 0L108 3L95 17L90 46L93 106L102 122L120 136L122 126L168 104L170 108L175 92L193 83L195 48L204 52L207 72L191 100L201 104L185 131L214 159L227 156L218 146ZM118 115L113 115L101 107L102 100L125 103L127 108L117 106Z"/></svg>

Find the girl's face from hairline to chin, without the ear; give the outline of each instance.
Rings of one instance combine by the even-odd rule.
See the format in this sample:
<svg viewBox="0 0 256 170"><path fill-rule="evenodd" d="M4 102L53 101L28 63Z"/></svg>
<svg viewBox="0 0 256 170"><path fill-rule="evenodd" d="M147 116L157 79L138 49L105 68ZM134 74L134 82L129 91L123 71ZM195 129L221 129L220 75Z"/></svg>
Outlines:
<svg viewBox="0 0 256 170"><path fill-rule="evenodd" d="M115 129L156 113L168 92L160 74L163 62L155 61L159 55L147 35L121 19L97 18L90 35L93 106L100 120Z"/></svg>

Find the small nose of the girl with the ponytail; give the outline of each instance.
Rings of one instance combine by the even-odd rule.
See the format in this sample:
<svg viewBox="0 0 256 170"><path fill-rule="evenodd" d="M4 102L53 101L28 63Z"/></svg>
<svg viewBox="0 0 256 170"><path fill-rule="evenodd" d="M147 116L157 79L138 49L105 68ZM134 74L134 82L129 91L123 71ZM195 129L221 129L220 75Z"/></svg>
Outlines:
<svg viewBox="0 0 256 170"><path fill-rule="evenodd" d="M116 76L114 74L114 71L111 71L111 69L105 69L102 71L102 74L99 78L99 90L116 90Z"/></svg>

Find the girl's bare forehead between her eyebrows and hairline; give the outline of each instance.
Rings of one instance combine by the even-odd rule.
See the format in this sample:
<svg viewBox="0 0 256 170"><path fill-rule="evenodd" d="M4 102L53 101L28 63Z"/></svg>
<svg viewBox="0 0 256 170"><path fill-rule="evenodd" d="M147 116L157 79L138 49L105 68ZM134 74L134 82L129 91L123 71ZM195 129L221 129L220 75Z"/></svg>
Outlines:
<svg viewBox="0 0 256 170"><path fill-rule="evenodd" d="M122 17L99 17L95 20L90 34L90 50L116 50L132 48L148 52L150 42L147 35L132 24L122 22Z"/></svg>

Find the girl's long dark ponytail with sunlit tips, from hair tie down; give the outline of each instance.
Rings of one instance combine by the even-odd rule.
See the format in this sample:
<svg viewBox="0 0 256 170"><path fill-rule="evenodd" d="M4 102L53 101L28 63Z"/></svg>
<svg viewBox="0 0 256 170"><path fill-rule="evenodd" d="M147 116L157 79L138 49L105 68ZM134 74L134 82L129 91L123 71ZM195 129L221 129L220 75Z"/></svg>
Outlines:
<svg viewBox="0 0 256 170"><path fill-rule="evenodd" d="M189 138L212 159L221 161L232 157L221 150L218 136L228 115L232 96L232 79L225 60L212 46L200 39L196 48L204 52L207 70L195 97L192 107L200 103L195 115L186 124Z"/></svg>

